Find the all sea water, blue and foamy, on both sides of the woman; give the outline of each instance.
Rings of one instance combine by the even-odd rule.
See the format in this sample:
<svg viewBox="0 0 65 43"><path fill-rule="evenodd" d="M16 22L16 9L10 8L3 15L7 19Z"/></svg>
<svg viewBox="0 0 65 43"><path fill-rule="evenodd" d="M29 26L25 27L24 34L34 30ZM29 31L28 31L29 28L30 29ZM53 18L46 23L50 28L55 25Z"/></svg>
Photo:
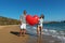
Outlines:
<svg viewBox="0 0 65 43"><path fill-rule="evenodd" d="M30 33L37 33L37 26L29 26L27 25L27 30ZM53 38L57 38L65 43L65 23L60 24L44 24L43 25L43 34L52 35Z"/></svg>

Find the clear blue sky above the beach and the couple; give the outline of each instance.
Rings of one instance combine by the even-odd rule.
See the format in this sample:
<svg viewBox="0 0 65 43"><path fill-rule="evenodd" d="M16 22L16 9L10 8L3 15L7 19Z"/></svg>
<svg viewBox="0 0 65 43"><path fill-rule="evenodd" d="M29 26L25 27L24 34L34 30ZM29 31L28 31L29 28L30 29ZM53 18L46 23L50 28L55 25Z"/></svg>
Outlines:
<svg viewBox="0 0 65 43"><path fill-rule="evenodd" d="M46 22L65 20L65 0L0 0L0 16L20 19L23 11L44 15Z"/></svg>

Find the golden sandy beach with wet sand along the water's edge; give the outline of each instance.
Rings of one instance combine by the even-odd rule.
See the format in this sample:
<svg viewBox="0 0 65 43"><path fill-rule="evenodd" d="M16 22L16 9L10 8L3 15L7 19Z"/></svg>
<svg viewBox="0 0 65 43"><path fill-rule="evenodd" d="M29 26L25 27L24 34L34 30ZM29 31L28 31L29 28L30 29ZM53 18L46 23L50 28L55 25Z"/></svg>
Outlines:
<svg viewBox="0 0 65 43"><path fill-rule="evenodd" d="M18 37L20 26L0 26L0 43L62 43L51 35L35 35L27 33L25 37Z"/></svg>

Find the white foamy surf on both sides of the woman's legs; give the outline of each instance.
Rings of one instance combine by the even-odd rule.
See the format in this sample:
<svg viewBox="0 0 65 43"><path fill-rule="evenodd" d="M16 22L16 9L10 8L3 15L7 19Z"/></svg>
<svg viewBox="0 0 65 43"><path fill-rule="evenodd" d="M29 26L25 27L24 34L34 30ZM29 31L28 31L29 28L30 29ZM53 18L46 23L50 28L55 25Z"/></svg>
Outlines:
<svg viewBox="0 0 65 43"><path fill-rule="evenodd" d="M36 34L37 33L37 27L27 27L27 31L28 33L34 33ZM53 30L53 29L42 29L42 34L46 34L46 35L52 35L53 38L57 38L60 39L61 41L65 42L65 32L63 30Z"/></svg>

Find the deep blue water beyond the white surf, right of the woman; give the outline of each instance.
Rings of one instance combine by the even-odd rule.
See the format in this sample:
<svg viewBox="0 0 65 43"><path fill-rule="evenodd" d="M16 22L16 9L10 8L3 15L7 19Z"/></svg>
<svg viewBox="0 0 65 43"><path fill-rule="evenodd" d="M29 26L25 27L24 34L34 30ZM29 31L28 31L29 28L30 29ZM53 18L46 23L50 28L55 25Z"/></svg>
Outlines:
<svg viewBox="0 0 65 43"><path fill-rule="evenodd" d="M65 30L65 23L60 24L44 24L44 28L54 30Z"/></svg>

